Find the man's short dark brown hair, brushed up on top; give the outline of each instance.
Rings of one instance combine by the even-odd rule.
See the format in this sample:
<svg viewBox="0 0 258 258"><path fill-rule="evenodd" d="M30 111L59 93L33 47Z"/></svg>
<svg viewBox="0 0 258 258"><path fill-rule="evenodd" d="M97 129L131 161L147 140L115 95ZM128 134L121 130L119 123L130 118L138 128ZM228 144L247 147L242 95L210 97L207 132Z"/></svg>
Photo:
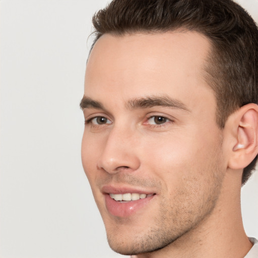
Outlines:
<svg viewBox="0 0 258 258"><path fill-rule="evenodd" d="M231 0L113 0L93 16L95 42L105 33L192 30L212 44L205 78L217 100L217 123L247 103L258 101L258 29L252 18ZM92 47L93 47L92 45ZM255 159L244 168L242 184Z"/></svg>

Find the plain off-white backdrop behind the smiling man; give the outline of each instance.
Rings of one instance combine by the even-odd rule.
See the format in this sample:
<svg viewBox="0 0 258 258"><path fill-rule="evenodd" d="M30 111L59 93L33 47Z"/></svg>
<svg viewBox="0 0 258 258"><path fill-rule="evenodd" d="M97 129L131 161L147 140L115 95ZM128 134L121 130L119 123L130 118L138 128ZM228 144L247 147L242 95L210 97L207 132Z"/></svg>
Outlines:
<svg viewBox="0 0 258 258"><path fill-rule="evenodd" d="M239 1L258 21L258 0ZM84 174L79 108L91 17L106 0L2 0L0 257L123 257L107 244ZM258 173L242 189L258 237Z"/></svg>

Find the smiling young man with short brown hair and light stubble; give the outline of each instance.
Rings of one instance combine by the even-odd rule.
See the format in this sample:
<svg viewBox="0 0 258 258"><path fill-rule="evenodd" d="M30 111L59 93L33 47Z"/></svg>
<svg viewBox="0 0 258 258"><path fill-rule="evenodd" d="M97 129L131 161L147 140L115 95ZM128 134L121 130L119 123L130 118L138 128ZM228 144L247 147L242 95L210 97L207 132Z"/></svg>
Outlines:
<svg viewBox="0 0 258 258"><path fill-rule="evenodd" d="M114 0L93 18L82 161L110 247L258 257L240 189L258 153L258 30L230 0Z"/></svg>

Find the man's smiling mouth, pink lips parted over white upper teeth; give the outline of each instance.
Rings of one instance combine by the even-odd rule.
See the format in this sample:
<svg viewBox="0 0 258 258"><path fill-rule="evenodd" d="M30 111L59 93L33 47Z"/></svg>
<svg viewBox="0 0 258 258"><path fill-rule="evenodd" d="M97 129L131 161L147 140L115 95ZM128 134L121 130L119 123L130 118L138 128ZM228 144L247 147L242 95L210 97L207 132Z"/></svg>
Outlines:
<svg viewBox="0 0 258 258"><path fill-rule="evenodd" d="M115 217L122 218L140 212L156 196L156 193L149 191L113 186L104 186L102 192L105 195L107 211Z"/></svg>

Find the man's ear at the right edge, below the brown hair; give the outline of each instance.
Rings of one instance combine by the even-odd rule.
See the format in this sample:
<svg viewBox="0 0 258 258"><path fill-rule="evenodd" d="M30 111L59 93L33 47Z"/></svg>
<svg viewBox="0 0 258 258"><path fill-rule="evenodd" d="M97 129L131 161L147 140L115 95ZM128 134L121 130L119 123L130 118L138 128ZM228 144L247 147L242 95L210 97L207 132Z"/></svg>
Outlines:
<svg viewBox="0 0 258 258"><path fill-rule="evenodd" d="M243 169L258 153L258 106L254 103L244 105L229 120L233 137L228 167Z"/></svg>

